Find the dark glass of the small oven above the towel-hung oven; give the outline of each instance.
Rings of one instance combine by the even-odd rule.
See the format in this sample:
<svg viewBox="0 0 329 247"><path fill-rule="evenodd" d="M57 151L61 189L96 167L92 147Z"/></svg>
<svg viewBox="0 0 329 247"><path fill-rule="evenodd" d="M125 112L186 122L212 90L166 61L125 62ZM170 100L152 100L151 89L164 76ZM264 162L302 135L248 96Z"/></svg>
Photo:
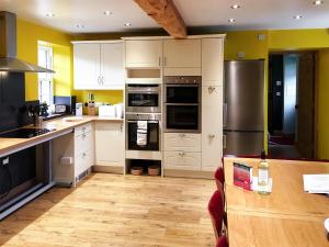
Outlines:
<svg viewBox="0 0 329 247"><path fill-rule="evenodd" d="M158 108L159 106L159 94L158 93L128 93L128 106L135 108Z"/></svg>

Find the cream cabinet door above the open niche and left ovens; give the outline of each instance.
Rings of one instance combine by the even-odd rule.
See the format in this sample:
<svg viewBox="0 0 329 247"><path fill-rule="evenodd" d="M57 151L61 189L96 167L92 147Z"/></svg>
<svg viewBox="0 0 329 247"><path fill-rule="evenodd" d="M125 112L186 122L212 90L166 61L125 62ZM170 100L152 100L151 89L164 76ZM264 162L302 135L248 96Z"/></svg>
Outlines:
<svg viewBox="0 0 329 247"><path fill-rule="evenodd" d="M162 41L126 41L126 67L161 67Z"/></svg>

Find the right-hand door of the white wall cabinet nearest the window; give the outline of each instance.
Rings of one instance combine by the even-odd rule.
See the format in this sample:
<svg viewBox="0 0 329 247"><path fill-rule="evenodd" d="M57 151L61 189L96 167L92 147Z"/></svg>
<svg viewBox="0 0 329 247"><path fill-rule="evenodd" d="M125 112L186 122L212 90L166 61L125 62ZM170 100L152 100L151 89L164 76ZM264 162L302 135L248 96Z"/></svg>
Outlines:
<svg viewBox="0 0 329 247"><path fill-rule="evenodd" d="M101 44L102 89L124 88L123 43Z"/></svg>

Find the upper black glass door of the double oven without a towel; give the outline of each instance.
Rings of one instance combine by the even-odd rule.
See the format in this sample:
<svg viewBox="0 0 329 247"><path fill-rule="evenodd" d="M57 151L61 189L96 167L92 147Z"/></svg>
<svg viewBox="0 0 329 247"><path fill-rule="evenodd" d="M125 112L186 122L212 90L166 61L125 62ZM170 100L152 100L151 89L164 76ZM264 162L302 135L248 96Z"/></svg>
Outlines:
<svg viewBox="0 0 329 247"><path fill-rule="evenodd" d="M198 86L197 85L168 85L166 86L167 103L197 103Z"/></svg>

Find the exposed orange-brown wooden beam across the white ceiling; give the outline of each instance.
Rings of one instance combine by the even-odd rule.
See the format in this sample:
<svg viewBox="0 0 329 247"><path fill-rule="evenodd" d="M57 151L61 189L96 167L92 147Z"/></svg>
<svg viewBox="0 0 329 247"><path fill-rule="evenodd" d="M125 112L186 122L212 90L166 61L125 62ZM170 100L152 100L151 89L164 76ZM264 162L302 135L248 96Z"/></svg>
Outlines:
<svg viewBox="0 0 329 247"><path fill-rule="evenodd" d="M134 1L171 36L177 38L186 37L186 25L172 0Z"/></svg>

